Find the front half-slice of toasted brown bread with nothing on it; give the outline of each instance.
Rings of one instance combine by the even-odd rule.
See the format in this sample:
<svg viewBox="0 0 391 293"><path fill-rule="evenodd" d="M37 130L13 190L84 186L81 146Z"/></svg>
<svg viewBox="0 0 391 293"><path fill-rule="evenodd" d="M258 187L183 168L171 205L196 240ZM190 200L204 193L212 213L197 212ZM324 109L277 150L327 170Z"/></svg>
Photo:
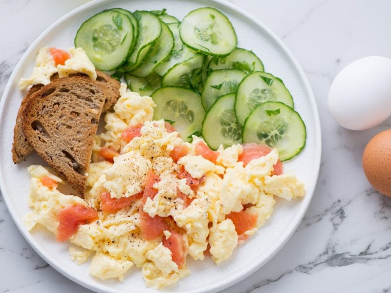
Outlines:
<svg viewBox="0 0 391 293"><path fill-rule="evenodd" d="M22 109L22 131L43 159L84 197L92 147L106 90L85 77L54 80Z"/></svg>

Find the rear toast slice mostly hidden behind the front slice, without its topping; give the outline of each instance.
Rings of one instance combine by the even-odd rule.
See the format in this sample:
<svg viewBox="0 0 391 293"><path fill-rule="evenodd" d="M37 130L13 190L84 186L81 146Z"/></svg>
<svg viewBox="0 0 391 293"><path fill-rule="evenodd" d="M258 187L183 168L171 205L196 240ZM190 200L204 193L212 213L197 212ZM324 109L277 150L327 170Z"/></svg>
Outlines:
<svg viewBox="0 0 391 293"><path fill-rule="evenodd" d="M119 98L119 88L120 84L116 79L109 77L109 75L103 73L100 70L96 70L97 73L97 81L102 84L106 88L105 92L105 105L103 106L102 112L109 111L115 103L117 103ZM83 74L74 74L75 76L85 76ZM85 76L88 78L87 76ZM56 73L51 77L51 81L58 79L58 74ZM24 137L22 132L22 109L26 104L26 101L30 98L30 96L36 91L40 90L43 87L43 84L33 85L30 90L26 93L22 100L22 104L18 111L18 116L16 117L16 123L14 127L14 142L12 143L12 161L15 164L22 162L33 150L34 148L30 146L27 139Z"/></svg>

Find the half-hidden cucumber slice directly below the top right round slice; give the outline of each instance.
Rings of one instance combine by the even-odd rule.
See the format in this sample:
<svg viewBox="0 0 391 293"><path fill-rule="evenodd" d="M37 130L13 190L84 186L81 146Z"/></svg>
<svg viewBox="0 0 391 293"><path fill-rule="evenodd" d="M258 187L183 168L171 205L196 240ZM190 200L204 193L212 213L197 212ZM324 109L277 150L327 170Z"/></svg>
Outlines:
<svg viewBox="0 0 391 293"><path fill-rule="evenodd" d="M236 48L225 58L213 58L209 63L210 71L217 69L239 69L247 73L254 71L263 71L261 59L253 53L241 48Z"/></svg>

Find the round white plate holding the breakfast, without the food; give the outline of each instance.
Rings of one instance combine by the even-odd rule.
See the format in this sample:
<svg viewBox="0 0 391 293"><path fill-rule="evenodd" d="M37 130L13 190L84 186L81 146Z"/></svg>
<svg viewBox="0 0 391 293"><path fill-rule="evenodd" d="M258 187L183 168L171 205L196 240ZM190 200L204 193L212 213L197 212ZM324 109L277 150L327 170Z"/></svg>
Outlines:
<svg viewBox="0 0 391 293"><path fill-rule="evenodd" d="M134 10L158 10L168 12L182 19L189 11L203 6L212 6L228 16L238 35L238 46L252 49L262 60L267 72L280 77L292 93L295 109L303 117L307 127L307 142L304 151L295 159L284 164L285 171L292 171L301 178L307 194L302 200L286 202L278 200L275 211L267 224L255 236L239 246L231 258L216 266L210 258L204 261L189 260L192 274L168 287L166 292L201 293L217 292L250 273L261 268L285 242L299 225L307 209L318 177L321 157L321 131L319 115L311 88L304 72L286 49L284 44L260 21L223 0L101 0L90 2L65 15L51 25L30 46L12 73L0 104L0 183L5 203L25 239L45 261L71 280L96 292L156 292L146 288L141 272L130 269L123 282L102 281L88 274L89 263L78 266L71 262L68 243L57 243L52 233L44 229L28 232L23 216L30 209L27 205L30 176L26 167L43 164L37 156L28 157L26 162L14 165L11 160L11 146L16 114L22 100L18 90L19 79L29 76L35 56L42 46L69 48L73 45L75 33L83 21L103 9L122 7Z"/></svg>

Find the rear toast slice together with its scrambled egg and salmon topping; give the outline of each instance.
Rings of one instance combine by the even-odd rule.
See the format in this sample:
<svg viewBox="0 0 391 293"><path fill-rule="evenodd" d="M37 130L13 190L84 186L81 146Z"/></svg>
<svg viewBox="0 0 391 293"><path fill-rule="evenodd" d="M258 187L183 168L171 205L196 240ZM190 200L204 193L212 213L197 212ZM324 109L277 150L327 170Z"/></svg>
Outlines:
<svg viewBox="0 0 391 293"><path fill-rule="evenodd" d="M44 84L48 84L59 78L58 67L62 69L62 76L76 77L76 76L88 76L88 74L94 78L91 70L87 70L93 64L90 63L83 49L79 48L69 50L73 54L70 55L64 50L56 48L44 47L39 50L37 55L36 67L33 69L33 74L29 79L21 79L20 89L24 90L28 86L31 86L22 100L22 105L19 108L18 116L14 127L14 142L12 144L12 160L15 164L24 160L34 148L30 145L25 138L22 131L22 111L26 102L30 99L33 93L40 90ZM53 55L54 54L54 55ZM84 55L84 56L83 56ZM56 57L54 57L56 56ZM76 62L74 59L76 58ZM56 61L55 61L56 60ZM68 61L69 60L69 61ZM106 112L117 102L119 83L110 78L107 74L96 70L96 81L101 84L102 88L105 88L105 104L102 112Z"/></svg>

